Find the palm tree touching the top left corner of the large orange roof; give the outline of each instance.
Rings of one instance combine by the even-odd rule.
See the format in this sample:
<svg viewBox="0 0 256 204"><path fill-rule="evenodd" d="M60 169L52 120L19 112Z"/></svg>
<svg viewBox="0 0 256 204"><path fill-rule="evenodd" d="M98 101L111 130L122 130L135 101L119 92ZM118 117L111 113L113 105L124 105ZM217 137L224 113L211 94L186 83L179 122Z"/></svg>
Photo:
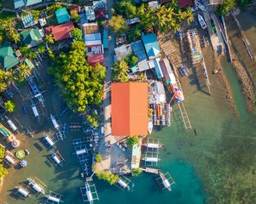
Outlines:
<svg viewBox="0 0 256 204"><path fill-rule="evenodd" d="M125 60L117 61L113 64L113 81L128 82L129 66Z"/></svg>

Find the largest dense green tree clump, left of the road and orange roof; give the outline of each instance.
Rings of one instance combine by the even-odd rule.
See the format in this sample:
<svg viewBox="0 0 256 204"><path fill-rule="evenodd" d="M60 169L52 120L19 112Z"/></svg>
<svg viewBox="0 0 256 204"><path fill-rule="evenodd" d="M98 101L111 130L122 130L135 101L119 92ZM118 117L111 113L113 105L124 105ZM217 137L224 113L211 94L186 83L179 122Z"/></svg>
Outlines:
<svg viewBox="0 0 256 204"><path fill-rule="evenodd" d="M85 111L87 105L101 103L105 67L97 65L94 68L87 63L84 42L73 42L68 54L55 57L49 73L54 75L71 110Z"/></svg>

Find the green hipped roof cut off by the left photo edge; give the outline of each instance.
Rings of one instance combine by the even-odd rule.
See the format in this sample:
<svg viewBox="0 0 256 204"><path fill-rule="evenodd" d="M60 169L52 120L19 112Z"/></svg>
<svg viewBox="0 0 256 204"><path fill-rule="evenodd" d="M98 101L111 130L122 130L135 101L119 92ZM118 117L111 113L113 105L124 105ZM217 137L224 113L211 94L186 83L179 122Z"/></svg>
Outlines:
<svg viewBox="0 0 256 204"><path fill-rule="evenodd" d="M0 47L0 64L3 70L8 71L19 63L19 59L16 57L12 47L9 46L8 42L3 43Z"/></svg>

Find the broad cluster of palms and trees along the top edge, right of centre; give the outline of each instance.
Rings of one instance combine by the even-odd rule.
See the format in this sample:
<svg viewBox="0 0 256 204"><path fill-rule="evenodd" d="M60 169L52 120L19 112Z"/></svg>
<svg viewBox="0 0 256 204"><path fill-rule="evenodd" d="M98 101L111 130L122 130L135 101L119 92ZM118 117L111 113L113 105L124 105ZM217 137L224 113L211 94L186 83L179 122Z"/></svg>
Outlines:
<svg viewBox="0 0 256 204"><path fill-rule="evenodd" d="M182 11L177 2L166 3L158 8L150 8L143 3L137 7L131 1L117 1L114 4L114 16L109 20L109 25L117 34L129 33L131 41L141 37L142 31L177 31L183 22L190 23L194 20L191 9ZM139 18L140 24L130 28L125 25L125 20Z"/></svg>

